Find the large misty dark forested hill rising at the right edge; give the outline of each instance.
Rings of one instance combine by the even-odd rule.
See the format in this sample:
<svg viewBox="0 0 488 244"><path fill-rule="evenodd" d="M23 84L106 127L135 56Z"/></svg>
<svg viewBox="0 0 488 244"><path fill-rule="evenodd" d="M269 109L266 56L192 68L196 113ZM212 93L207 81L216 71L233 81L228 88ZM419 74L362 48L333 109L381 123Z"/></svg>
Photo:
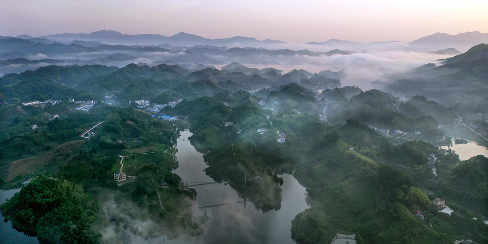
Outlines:
<svg viewBox="0 0 488 244"><path fill-rule="evenodd" d="M424 65L399 75L385 75L373 86L401 97L421 95L449 107L488 113L488 45L479 44L466 53Z"/></svg>

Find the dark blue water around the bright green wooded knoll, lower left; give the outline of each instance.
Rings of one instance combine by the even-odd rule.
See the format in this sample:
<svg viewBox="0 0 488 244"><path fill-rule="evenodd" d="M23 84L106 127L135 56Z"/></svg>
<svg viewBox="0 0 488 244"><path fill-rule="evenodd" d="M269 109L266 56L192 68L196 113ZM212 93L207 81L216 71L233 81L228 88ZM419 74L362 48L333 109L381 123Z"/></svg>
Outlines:
<svg viewBox="0 0 488 244"><path fill-rule="evenodd" d="M7 198L12 198L15 193L20 192L20 188L1 190L0 189L0 205L7 202ZM38 244L37 237L30 237L23 232L19 232L12 227L12 222L5 223L3 215L0 220L0 243L2 244Z"/></svg>

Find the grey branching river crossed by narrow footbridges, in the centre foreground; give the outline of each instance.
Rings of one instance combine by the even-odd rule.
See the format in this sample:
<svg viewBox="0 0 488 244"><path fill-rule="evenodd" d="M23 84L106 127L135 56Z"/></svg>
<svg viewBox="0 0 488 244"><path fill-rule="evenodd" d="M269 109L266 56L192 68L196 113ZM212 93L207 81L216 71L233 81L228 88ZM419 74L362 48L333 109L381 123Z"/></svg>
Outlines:
<svg viewBox="0 0 488 244"><path fill-rule="evenodd" d="M173 172L178 174L183 181L190 182L214 182L212 178L205 175L203 169L208 165L203 161L203 154L197 152L190 144L188 137L192 134L182 131L178 138L179 166ZM184 140L184 141L183 141ZM194 213L200 216L206 211L208 226L200 236L181 236L176 240L167 240L163 237L144 240L142 237L132 235L128 231L131 243L254 243L254 244L294 244L291 239L291 221L295 216L308 208L305 203L305 188L301 186L291 175L279 175L283 177L284 183L283 200L280 210L271 210L263 213L254 205L240 198L236 191L224 183L192 186L197 190L196 207L231 203L220 206L205 207ZM240 203L236 203L240 202ZM127 239L126 239L127 240Z"/></svg>

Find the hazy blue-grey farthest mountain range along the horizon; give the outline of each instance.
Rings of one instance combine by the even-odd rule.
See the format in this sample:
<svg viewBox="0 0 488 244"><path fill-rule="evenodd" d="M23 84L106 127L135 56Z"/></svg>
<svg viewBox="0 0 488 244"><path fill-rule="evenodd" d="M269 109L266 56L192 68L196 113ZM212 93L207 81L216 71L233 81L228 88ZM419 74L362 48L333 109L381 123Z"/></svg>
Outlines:
<svg viewBox="0 0 488 244"><path fill-rule="evenodd" d="M6 37L0 37L6 38ZM209 39L201 36L180 32L173 36L163 36L160 34L140 34L127 35L112 30L100 30L92 33L63 33L40 37L32 37L28 35L20 35L17 38L28 39L34 42L42 42L52 44L54 42L63 42L65 44L81 44L84 46L97 46L102 43L105 44L124 44L124 45L160 45L169 44L173 46L195 46L195 45L211 45L227 48L231 47L269 47L274 46L285 48L287 43L276 40L257 40L250 37L236 36L232 38L223 39ZM461 52L467 51L471 46L488 43L488 33L481 33L479 31L465 32L457 35L449 35L446 33L435 33L426 37L419 38L411 42L401 41L374 41L369 43L345 41L330 39L322 42L306 42L310 46L327 46L335 47L337 49L355 50L356 52L362 50L375 50L380 47L388 49L405 49L405 50L423 50L426 52L436 51L439 49L456 48ZM331 48L331 49L335 49Z"/></svg>

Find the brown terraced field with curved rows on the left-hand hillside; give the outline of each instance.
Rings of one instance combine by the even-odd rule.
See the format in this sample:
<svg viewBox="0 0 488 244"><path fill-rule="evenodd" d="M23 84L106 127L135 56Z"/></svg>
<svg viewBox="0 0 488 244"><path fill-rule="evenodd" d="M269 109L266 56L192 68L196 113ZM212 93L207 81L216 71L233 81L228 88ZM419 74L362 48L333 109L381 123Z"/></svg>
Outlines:
<svg viewBox="0 0 488 244"><path fill-rule="evenodd" d="M34 170L54 162L58 155L73 153L78 150L83 143L84 141L82 140L66 142L39 157L26 158L7 163L1 167L1 174L7 181L11 181L19 175L30 174Z"/></svg>

